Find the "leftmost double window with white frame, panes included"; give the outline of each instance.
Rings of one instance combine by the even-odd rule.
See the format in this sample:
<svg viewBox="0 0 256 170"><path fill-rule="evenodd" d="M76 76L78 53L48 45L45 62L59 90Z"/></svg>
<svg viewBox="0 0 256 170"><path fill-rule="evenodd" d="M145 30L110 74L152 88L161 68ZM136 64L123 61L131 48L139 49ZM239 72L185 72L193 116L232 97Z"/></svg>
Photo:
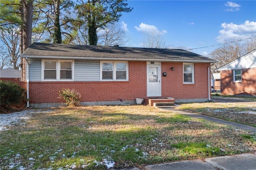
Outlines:
<svg viewBox="0 0 256 170"><path fill-rule="evenodd" d="M42 60L42 81L73 81L74 61Z"/></svg>

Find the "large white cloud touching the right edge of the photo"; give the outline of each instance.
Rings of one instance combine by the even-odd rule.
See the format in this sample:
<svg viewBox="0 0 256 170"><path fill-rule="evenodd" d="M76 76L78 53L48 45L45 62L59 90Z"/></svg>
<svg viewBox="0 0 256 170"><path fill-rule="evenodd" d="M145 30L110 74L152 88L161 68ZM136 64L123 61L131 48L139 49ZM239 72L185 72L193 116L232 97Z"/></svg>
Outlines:
<svg viewBox="0 0 256 170"><path fill-rule="evenodd" d="M216 41L225 43L232 39L246 39L256 36L256 22L245 21L243 24L236 25L234 23L222 23L222 30L219 31L220 36L216 37Z"/></svg>

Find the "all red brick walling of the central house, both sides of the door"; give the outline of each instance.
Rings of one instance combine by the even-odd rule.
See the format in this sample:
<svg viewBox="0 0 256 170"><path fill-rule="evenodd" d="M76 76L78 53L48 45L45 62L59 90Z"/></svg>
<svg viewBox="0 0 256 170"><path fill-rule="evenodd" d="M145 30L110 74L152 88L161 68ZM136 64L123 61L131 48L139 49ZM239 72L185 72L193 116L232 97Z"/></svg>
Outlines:
<svg viewBox="0 0 256 170"><path fill-rule="evenodd" d="M183 84L182 63L162 63L162 72L167 73L166 77L162 77L162 97L208 98L208 66L208 63L194 65L195 84L191 85ZM175 70L171 71L170 67ZM129 61L129 81L30 82L29 98L31 103L63 102L59 91L66 88L78 91L81 102L135 100L146 97L146 82L146 62Z"/></svg>

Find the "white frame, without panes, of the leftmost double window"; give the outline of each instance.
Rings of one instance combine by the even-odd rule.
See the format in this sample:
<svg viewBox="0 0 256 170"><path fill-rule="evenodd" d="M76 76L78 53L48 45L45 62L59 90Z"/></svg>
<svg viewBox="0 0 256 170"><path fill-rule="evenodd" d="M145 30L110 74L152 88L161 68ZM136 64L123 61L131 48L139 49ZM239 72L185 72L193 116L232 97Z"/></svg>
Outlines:
<svg viewBox="0 0 256 170"><path fill-rule="evenodd" d="M45 61L56 61L56 79L44 79L44 62ZM71 62L72 79L60 79L60 62ZM74 60L42 59L42 81L74 81Z"/></svg>

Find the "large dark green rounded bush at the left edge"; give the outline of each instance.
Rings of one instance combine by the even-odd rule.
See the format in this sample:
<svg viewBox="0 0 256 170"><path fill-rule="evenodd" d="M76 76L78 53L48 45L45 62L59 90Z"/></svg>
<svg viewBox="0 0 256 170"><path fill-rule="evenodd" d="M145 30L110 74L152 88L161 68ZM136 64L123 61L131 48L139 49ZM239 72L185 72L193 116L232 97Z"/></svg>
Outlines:
<svg viewBox="0 0 256 170"><path fill-rule="evenodd" d="M1 113L20 107L26 99L26 90L12 81L0 81Z"/></svg>

